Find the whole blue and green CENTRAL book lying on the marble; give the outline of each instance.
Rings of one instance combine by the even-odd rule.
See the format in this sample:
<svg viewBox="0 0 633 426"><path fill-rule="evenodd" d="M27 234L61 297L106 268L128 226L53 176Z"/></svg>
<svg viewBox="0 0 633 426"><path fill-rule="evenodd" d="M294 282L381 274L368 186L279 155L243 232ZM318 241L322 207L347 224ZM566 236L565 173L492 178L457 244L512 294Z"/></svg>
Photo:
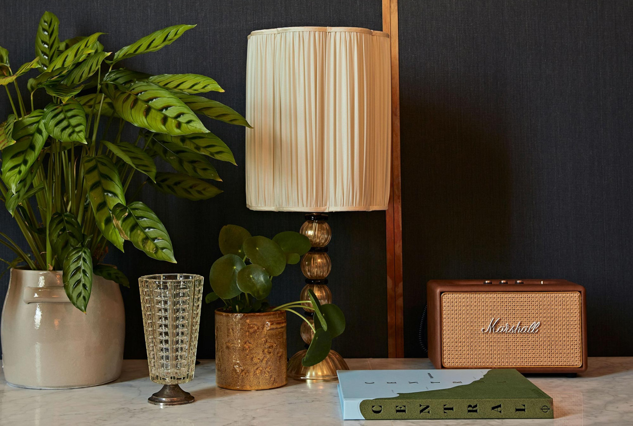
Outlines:
<svg viewBox="0 0 633 426"><path fill-rule="evenodd" d="M554 418L553 402L513 369L339 371L344 420Z"/></svg>

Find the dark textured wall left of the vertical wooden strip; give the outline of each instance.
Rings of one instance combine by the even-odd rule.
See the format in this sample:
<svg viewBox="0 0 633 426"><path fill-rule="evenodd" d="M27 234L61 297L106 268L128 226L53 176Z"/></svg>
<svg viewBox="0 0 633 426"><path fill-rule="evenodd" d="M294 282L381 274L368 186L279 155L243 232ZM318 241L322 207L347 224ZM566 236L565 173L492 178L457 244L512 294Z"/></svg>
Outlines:
<svg viewBox="0 0 633 426"><path fill-rule="evenodd" d="M225 93L211 97L235 110L244 112L246 77L246 36L253 30L299 25L353 26L380 30L380 0L328 1L3 1L0 5L0 46L9 49L11 63L19 65L34 57L35 31L44 10L56 13L61 21L61 39L93 32L107 32L101 37L106 50L115 51L169 25L197 23L172 46L149 53L125 65L148 73L200 73L215 78ZM23 85L26 82L23 80ZM26 90L24 88L24 90ZM2 91L4 93L4 90ZM0 116L10 108L0 94ZM177 265L147 258L131 244L126 253L111 251L110 263L127 274L132 288L123 289L127 315L126 358L146 357L143 340L138 285L140 275L159 272L199 273L208 277L211 263L221 254L217 248L218 232L226 223L242 225L253 234L272 237L282 230L298 230L303 223L299 213L264 213L249 211L244 195L244 128L213 120L205 125L235 154L238 166L216 162L223 194L208 201L187 201L144 188L141 199L165 223L172 237ZM219 163L219 164L218 164ZM131 185L132 188L135 185ZM0 212L0 227L17 241L22 241L13 219ZM330 288L335 303L346 312L348 327L334 341L334 348L344 356L387 356L385 215L372 213L334 213L330 215L334 238L330 245L332 273ZM12 259L0 247L0 258ZM0 279L0 300L4 299L9 276ZM303 287L299 265L289 266L275 279L272 303L297 300ZM206 282L206 291L210 291ZM371 312L371 315L367 313ZM203 306L198 356L213 358L213 308ZM299 322L289 318L289 353L301 349Z"/></svg>

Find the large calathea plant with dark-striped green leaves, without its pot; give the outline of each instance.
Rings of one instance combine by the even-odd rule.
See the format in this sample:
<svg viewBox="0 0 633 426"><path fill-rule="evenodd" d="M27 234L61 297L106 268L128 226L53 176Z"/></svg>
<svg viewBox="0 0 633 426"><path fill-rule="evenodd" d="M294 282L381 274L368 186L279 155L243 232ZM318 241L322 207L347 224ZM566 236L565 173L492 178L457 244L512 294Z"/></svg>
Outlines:
<svg viewBox="0 0 633 426"><path fill-rule="evenodd" d="M208 159L235 164L229 147L197 116L248 126L228 106L197 96L223 92L215 80L149 75L120 66L122 60L172 44L194 26L158 30L113 54L99 42L101 32L60 41L58 18L46 12L35 36L34 60L14 71L0 47L0 85L13 110L0 125L0 191L28 249L4 232L0 244L17 255L6 261L9 266L61 268L66 294L82 311L93 273L127 285L116 268L100 263L108 244L123 251L128 240L151 258L175 262L163 223L144 203L130 201L135 172L147 176L143 184L199 200L222 192L207 180L220 180ZM28 80L29 96L23 96L17 79L32 69L39 75ZM36 91L50 97L43 109L34 108ZM132 142L123 141L128 123L139 129ZM156 159L175 173L158 172Z"/></svg>

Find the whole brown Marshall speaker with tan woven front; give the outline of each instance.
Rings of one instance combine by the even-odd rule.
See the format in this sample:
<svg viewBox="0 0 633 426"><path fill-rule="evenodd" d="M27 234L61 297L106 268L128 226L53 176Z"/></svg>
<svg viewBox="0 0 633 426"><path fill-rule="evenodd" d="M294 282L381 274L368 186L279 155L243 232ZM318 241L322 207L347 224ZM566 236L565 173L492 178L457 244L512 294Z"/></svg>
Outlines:
<svg viewBox="0 0 633 426"><path fill-rule="evenodd" d="M565 280L500 282L427 283L433 365L522 373L587 370L584 287Z"/></svg>

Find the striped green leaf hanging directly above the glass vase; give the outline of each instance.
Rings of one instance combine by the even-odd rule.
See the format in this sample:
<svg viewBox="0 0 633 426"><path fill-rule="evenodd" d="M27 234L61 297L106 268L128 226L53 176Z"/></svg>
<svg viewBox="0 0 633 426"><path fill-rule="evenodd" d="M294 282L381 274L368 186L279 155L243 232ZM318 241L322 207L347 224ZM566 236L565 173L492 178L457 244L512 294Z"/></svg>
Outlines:
<svg viewBox="0 0 633 426"><path fill-rule="evenodd" d="M116 228L126 240L147 256L176 263L173 257L172 240L156 213L149 207L134 201L129 206L116 204L112 210Z"/></svg>

